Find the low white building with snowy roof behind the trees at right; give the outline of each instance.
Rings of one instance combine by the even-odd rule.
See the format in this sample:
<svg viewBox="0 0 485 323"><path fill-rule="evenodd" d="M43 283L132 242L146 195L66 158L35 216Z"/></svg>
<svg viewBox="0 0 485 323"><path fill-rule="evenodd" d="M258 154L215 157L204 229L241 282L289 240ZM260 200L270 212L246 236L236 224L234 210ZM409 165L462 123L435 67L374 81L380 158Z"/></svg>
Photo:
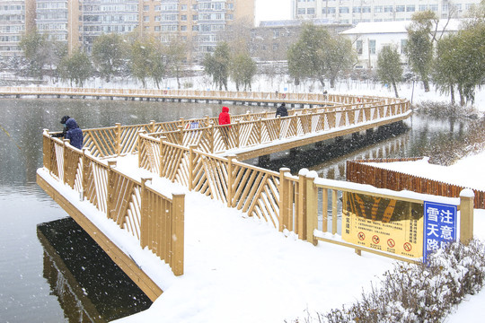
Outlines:
<svg viewBox="0 0 485 323"><path fill-rule="evenodd" d="M408 38L406 27L411 22L359 22L357 26L340 32L352 41L357 51L358 64L356 68L374 68L379 51L386 45L395 46L401 53L402 65L407 64L404 47ZM456 32L460 20L441 20L438 22L438 38L449 32Z"/></svg>

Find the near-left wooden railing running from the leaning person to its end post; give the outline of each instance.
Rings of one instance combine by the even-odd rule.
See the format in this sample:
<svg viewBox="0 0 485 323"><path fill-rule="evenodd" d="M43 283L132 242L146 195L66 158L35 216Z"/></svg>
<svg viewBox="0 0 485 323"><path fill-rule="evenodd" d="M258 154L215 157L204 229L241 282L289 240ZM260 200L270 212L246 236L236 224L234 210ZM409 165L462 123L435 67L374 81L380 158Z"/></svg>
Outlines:
<svg viewBox="0 0 485 323"><path fill-rule="evenodd" d="M175 275L183 274L183 195L163 196L149 179L132 179L116 169L116 162L103 162L47 131L43 134L43 164L51 176L169 264Z"/></svg>

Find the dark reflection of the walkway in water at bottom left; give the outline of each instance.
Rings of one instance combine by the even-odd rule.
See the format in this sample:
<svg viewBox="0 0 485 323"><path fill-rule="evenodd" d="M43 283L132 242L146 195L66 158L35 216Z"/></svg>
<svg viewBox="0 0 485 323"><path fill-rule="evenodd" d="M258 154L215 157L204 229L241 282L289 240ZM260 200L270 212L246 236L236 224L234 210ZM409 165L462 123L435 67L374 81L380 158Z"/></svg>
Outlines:
<svg viewBox="0 0 485 323"><path fill-rule="evenodd" d="M69 322L105 322L146 310L152 301L72 218L42 223L44 277Z"/></svg>

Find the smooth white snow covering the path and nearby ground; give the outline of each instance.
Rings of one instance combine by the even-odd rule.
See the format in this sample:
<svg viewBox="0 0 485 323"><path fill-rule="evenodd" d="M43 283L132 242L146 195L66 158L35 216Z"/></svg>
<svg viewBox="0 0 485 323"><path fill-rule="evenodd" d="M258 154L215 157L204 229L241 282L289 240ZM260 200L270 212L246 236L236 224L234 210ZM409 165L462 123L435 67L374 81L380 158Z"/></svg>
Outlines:
<svg viewBox="0 0 485 323"><path fill-rule="evenodd" d="M459 162L453 171L441 167L442 179L453 182L461 175L472 180L476 172L470 169L482 170L483 161L485 153L480 153ZM405 170L426 167L406 163ZM481 171L482 180L484 175ZM352 249L322 242L313 247L208 197L163 179L156 183L186 193L185 275L165 282L163 295L149 310L120 322L304 319L356 301L363 289L392 269L391 259L365 252L359 257ZM485 240L485 210L475 210L474 234ZM469 297L449 321L480 321L483 301L485 291Z"/></svg>

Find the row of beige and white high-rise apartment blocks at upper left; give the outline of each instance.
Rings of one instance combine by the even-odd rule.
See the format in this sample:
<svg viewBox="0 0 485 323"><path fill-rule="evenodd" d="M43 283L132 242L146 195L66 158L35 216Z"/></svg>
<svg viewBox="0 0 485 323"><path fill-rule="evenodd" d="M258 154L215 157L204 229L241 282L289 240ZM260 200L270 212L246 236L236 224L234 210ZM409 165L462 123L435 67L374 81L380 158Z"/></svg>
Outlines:
<svg viewBox="0 0 485 323"><path fill-rule="evenodd" d="M37 28L69 50L90 52L103 33L137 33L187 42L188 56L200 58L240 21L254 24L254 0L0 0L0 56L22 54L22 34Z"/></svg>

